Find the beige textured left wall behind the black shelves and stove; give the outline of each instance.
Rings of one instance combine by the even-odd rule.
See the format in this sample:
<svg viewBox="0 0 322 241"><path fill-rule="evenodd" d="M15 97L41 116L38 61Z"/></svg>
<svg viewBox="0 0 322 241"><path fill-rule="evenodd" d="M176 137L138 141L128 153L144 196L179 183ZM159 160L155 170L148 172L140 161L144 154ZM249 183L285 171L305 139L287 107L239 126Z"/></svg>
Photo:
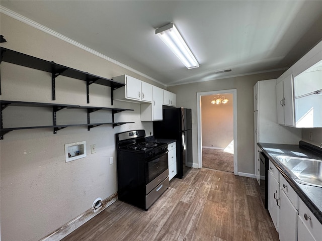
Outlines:
<svg viewBox="0 0 322 241"><path fill-rule="evenodd" d="M2 46L18 52L111 78L121 74L139 77L113 63L1 14ZM51 74L3 62L1 64L2 100L53 102ZM142 80L148 81L144 78ZM157 85L156 83L153 83ZM59 76L55 103L111 107L110 88L92 84L87 104L86 83ZM115 114L116 122L135 122L112 129L104 125L70 127L57 132L50 129L13 131L1 145L1 238L4 241L39 240L117 192L115 133L145 129L151 122L140 122L140 105L115 101L113 107L134 111ZM4 127L52 125L47 108L7 107ZM110 112L91 114L93 121L111 121ZM87 123L86 110L60 110L58 124ZM87 157L65 163L64 144L86 141ZM97 153L91 154L90 145ZM114 164L109 164L109 157Z"/></svg>

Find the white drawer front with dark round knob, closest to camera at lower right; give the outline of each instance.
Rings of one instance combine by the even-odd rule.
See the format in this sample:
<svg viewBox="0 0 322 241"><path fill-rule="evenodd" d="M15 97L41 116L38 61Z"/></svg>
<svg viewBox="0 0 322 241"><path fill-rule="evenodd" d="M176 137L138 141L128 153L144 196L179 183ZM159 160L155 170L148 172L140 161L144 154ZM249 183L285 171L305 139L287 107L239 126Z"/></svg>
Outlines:
<svg viewBox="0 0 322 241"><path fill-rule="evenodd" d="M303 220L305 227L313 235L313 237L316 240L320 240L320 238L322 237L322 224L316 219L316 217L301 199L299 200L298 215Z"/></svg>

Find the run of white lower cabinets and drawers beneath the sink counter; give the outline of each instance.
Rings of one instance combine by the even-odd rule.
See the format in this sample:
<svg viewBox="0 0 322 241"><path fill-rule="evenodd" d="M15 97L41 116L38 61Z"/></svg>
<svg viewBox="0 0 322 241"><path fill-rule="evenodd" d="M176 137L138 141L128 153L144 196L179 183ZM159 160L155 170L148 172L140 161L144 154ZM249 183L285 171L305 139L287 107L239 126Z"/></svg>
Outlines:
<svg viewBox="0 0 322 241"><path fill-rule="evenodd" d="M321 241L322 224L269 161L268 211L280 241Z"/></svg>

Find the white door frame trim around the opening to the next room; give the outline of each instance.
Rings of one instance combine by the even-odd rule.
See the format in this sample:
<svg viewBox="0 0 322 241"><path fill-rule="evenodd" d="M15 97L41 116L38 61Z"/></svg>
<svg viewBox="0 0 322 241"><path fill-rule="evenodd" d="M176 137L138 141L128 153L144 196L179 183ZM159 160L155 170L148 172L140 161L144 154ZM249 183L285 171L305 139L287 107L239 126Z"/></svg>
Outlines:
<svg viewBox="0 0 322 241"><path fill-rule="evenodd" d="M202 168L202 122L201 122L201 96L214 94L232 94L233 96L233 174L238 175L237 165L237 90L215 90L197 92L197 124L198 124L198 167Z"/></svg>

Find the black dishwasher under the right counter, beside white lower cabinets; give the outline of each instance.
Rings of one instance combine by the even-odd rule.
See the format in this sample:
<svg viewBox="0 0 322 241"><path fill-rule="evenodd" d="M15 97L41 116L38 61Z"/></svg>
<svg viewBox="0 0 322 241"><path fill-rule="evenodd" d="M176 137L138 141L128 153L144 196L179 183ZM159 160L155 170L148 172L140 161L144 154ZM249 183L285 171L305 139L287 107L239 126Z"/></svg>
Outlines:
<svg viewBox="0 0 322 241"><path fill-rule="evenodd" d="M268 206L268 158L260 152L260 190L261 199L265 208Z"/></svg>

